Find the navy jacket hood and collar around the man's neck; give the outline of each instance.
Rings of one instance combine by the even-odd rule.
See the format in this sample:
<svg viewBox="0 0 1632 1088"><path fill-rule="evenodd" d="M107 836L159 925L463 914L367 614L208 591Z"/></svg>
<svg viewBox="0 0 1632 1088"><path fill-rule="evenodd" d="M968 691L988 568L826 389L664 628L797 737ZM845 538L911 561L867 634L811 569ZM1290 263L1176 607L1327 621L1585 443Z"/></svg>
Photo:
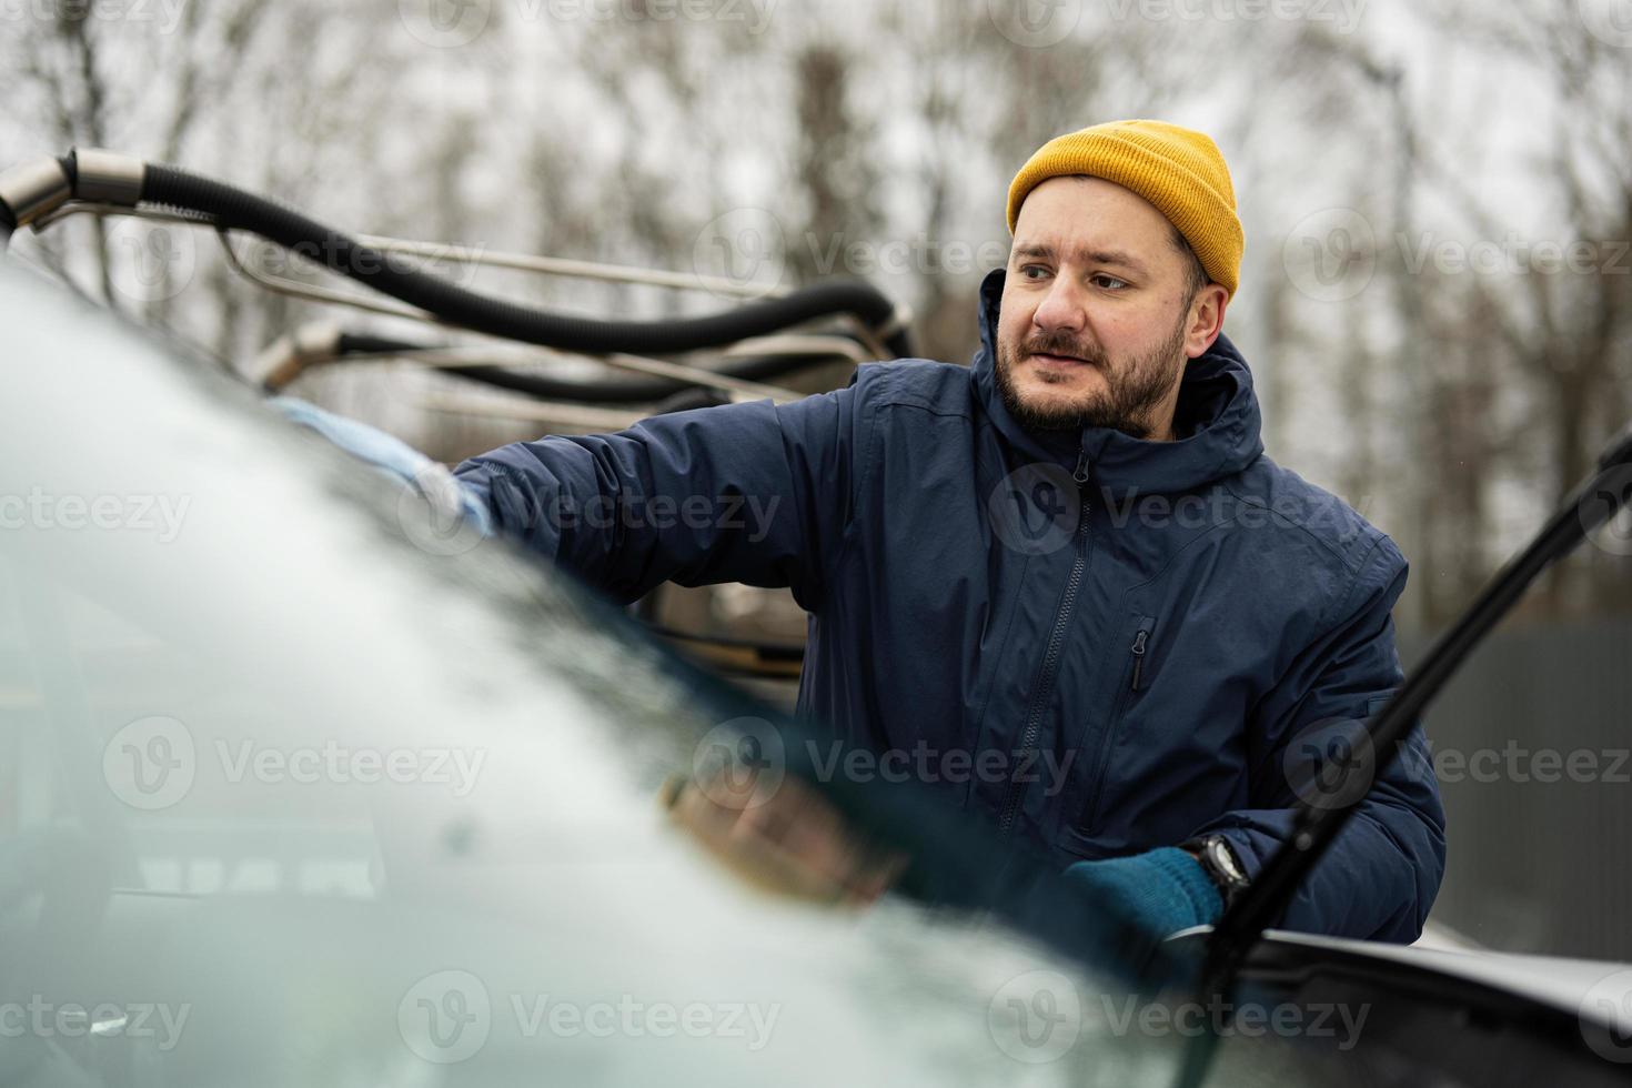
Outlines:
<svg viewBox="0 0 1632 1088"><path fill-rule="evenodd" d="M1173 426L1186 437L1149 442L1108 427L1033 431L1020 426L997 391L997 312L1004 277L999 268L981 282L981 349L969 367L969 380L999 432L1017 450L1067 470L1087 455L1093 483L1118 496L1193 491L1247 468L1263 453L1263 418L1252 372L1222 333L1204 356L1185 367Z"/></svg>

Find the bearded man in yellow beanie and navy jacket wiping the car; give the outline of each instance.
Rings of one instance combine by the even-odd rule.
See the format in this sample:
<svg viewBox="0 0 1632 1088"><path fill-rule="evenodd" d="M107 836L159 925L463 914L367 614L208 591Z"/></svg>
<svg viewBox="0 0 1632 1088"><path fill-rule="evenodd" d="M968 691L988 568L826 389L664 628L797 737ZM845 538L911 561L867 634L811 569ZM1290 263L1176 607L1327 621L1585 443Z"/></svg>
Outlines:
<svg viewBox="0 0 1632 1088"><path fill-rule="evenodd" d="M1221 333L1242 228L1211 139L1062 135L1015 176L1009 223L968 369L863 365L795 405L521 442L455 476L501 532L625 600L664 579L792 587L803 713L948 781L945 757L971 755L965 806L1155 930L1208 923L1299 798L1330 799L1312 760L1399 687L1407 564L1263 455ZM772 514L561 515L656 496ZM1444 817L1420 728L1408 749L1281 925L1420 933Z"/></svg>

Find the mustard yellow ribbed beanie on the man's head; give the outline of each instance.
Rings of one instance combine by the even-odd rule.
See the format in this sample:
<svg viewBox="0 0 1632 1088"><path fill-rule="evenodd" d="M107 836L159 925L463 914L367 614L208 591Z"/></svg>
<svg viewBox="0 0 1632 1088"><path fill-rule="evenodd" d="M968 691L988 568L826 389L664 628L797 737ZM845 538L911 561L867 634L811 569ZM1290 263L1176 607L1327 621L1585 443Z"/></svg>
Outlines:
<svg viewBox="0 0 1632 1088"><path fill-rule="evenodd" d="M1147 199L1196 251L1208 277L1235 295L1245 241L1229 166L1211 137L1165 121L1110 121L1058 135L1010 183L1009 233L1031 189L1069 175L1105 178Z"/></svg>

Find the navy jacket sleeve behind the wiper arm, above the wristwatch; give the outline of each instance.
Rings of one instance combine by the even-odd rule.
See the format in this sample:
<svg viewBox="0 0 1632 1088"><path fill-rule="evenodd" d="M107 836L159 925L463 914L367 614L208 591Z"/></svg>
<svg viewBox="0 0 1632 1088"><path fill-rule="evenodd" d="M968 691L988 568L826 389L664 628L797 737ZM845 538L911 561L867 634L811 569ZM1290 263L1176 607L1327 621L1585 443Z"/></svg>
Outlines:
<svg viewBox="0 0 1632 1088"><path fill-rule="evenodd" d="M1390 608L1407 564L1381 537L1361 564L1335 621L1258 701L1248 731L1250 809L1198 829L1224 835L1248 878L1286 840L1301 801L1366 799L1310 869L1278 923L1288 930L1410 943L1421 935L1444 874L1444 807L1418 721L1379 773L1364 723L1404 674ZM1342 765L1356 770L1340 776Z"/></svg>

